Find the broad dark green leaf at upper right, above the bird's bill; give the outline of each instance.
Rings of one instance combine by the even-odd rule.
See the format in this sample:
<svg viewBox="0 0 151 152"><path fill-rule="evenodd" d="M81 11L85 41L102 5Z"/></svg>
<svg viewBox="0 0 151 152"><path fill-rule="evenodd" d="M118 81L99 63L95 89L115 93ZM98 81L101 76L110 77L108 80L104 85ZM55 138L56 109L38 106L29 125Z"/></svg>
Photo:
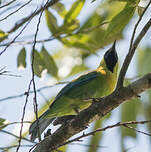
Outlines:
<svg viewBox="0 0 151 152"><path fill-rule="evenodd" d="M114 16L106 30L106 34L104 39L108 37L112 37L123 31L125 26L128 24L132 16L134 15L136 7L128 7L127 5L125 8L116 16Z"/></svg>

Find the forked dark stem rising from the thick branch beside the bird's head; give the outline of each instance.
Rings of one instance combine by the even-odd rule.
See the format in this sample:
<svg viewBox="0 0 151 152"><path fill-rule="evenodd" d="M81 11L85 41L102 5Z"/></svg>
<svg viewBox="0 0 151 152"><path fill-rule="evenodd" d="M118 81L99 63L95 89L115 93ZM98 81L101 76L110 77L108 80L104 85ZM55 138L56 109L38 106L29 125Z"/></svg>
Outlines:
<svg viewBox="0 0 151 152"><path fill-rule="evenodd" d="M130 42L130 47L129 47L129 51L128 51L128 54L124 60L124 63L122 65L122 68L121 68L121 71L120 71L120 74L119 74L119 78L118 78L118 82L117 82L117 89L121 88L123 86L123 82L124 82L124 77L126 75L126 72L127 72L127 69L129 67L129 64L133 58L133 55L135 53L135 50L138 46L138 44L140 43L140 41L143 39L143 37L145 36L146 32L148 31L148 29L151 27L151 19L147 22L147 24L143 27L143 29L141 30L141 32L139 33L138 37L136 38L134 44L133 44L133 41L134 41L134 36L135 36L135 32L136 32L136 29L139 25L139 23L141 22L142 20L142 17L144 16L146 10L148 9L148 7L150 6L151 4L151 1L148 3L148 5L146 6L146 8L144 9L143 13L141 14L139 20L137 21L137 23L135 24L135 27L134 27L134 30L133 30L133 33L132 33L132 37L131 37L131 42Z"/></svg>

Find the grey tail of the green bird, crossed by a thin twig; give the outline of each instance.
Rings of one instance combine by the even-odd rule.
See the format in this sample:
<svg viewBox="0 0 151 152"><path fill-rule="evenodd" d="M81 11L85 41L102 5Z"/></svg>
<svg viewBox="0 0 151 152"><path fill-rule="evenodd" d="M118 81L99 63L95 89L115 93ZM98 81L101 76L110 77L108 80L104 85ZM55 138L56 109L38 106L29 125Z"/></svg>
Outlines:
<svg viewBox="0 0 151 152"><path fill-rule="evenodd" d="M39 117L39 122L38 122L38 126L39 126L39 132L40 134L43 133L43 131L49 126L49 124L55 119L55 118L45 118L45 115L47 114L47 112L43 113L40 117ZM38 137L38 127L37 127L37 120L35 120L30 128L29 128L29 134L31 134L31 140L34 141L37 137Z"/></svg>

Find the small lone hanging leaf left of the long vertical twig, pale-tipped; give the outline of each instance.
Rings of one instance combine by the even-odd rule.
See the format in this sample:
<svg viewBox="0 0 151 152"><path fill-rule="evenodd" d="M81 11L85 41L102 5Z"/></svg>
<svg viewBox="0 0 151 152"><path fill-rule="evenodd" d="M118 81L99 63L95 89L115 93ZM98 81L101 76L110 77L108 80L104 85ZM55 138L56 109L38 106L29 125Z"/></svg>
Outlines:
<svg viewBox="0 0 151 152"><path fill-rule="evenodd" d="M19 69L26 68L26 50L23 47L17 57L17 67Z"/></svg>

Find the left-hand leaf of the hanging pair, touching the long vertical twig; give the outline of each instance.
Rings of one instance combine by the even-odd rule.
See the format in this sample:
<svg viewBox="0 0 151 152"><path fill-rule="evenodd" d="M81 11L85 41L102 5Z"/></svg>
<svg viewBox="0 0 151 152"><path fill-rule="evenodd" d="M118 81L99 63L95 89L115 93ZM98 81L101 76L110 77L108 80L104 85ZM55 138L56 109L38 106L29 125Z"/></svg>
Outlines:
<svg viewBox="0 0 151 152"><path fill-rule="evenodd" d="M40 53L37 50L34 50L34 73L41 77L41 73L44 69L46 69L43 59Z"/></svg>

